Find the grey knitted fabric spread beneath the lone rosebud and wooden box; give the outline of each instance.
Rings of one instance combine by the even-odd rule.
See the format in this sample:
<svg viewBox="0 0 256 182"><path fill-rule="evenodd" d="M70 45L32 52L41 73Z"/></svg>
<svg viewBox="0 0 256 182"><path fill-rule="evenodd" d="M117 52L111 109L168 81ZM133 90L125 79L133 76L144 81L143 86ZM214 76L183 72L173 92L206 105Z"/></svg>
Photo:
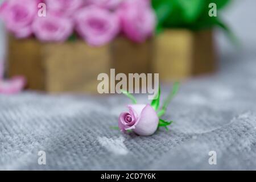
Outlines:
<svg viewBox="0 0 256 182"><path fill-rule="evenodd" d="M0 95L0 169L256 169L256 27L245 18L255 18L255 2L236 1L226 13L243 46L217 34L220 71L181 84L164 117L175 121L170 131L110 129L130 103L124 96ZM46 165L38 164L41 150Z"/></svg>

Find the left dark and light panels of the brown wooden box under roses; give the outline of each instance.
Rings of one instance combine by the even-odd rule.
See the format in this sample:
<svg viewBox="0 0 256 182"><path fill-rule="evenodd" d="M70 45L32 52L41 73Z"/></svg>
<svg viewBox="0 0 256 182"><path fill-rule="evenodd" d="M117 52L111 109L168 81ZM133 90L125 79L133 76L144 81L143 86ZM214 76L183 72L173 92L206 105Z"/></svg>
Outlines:
<svg viewBox="0 0 256 182"><path fill-rule="evenodd" d="M109 46L92 48L81 40L40 43L10 36L9 76L23 75L28 88L47 92L97 92L97 76L110 70Z"/></svg>

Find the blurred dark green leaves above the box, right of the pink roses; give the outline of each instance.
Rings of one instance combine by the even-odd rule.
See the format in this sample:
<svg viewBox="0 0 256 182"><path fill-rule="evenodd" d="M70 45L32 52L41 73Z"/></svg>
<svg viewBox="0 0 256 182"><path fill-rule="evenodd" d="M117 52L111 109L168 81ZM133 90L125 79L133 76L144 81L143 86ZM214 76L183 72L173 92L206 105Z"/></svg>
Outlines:
<svg viewBox="0 0 256 182"><path fill-rule="evenodd" d="M221 19L209 16L209 4L216 3L217 13L230 0L152 0L152 7L158 18L156 32L163 28L188 28L201 30L220 26Z"/></svg>

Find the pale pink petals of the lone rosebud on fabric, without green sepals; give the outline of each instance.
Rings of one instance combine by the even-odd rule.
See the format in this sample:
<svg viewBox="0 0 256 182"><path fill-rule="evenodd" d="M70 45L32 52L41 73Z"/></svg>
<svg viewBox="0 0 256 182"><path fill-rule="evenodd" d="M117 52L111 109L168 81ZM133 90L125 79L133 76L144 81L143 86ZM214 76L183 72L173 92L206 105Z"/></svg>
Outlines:
<svg viewBox="0 0 256 182"><path fill-rule="evenodd" d="M119 115L118 127L122 131L133 130L134 133L148 136L158 129L159 118L150 105L128 105L129 112Z"/></svg>

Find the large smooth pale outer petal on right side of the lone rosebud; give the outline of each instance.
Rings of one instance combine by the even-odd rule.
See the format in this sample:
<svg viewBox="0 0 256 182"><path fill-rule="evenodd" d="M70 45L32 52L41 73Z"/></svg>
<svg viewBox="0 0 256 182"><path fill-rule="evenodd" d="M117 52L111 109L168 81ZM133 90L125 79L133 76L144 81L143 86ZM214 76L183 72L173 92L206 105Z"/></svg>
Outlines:
<svg viewBox="0 0 256 182"><path fill-rule="evenodd" d="M133 129L133 131L142 136L152 135L158 128L158 122L159 118L154 108L150 105L146 105L137 123L135 123L135 129Z"/></svg>

